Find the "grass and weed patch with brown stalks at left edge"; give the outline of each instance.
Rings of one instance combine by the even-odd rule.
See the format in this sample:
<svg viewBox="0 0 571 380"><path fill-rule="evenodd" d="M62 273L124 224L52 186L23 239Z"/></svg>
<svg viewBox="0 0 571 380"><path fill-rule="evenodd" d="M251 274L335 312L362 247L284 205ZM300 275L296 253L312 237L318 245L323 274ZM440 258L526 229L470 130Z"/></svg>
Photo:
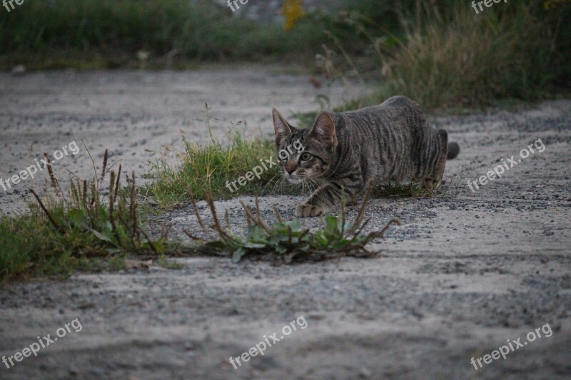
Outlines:
<svg viewBox="0 0 571 380"><path fill-rule="evenodd" d="M77 269L116 269L126 255L158 257L166 252L166 230L151 240L141 226L134 173L122 188L121 165L115 173L107 168L107 158L106 150L101 174L95 173L89 182L72 180L67 192L48 165L55 194L42 198L31 190L36 204L30 204L29 213L0 217L0 281L24 275L67 275ZM107 189L103 187L106 178Z"/></svg>

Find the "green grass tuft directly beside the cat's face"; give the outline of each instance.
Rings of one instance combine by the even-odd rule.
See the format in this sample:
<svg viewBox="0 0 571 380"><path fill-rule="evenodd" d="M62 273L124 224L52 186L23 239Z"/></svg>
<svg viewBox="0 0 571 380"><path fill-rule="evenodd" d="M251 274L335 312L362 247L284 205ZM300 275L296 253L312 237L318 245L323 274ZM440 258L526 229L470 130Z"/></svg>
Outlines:
<svg viewBox="0 0 571 380"><path fill-rule="evenodd" d="M279 191L281 194L297 194L300 189L283 182L276 157L273 140L262 135L245 138L248 130L241 124L232 125L223 139L212 133L211 109L206 106L206 126L210 141L206 145L193 143L183 135L184 151L178 154L175 165L161 158L153 163L149 177L154 178L149 185L149 194L161 206L172 206L178 202L188 202L191 196L204 199L210 193L216 199L228 199L239 195L262 195ZM232 183L254 167L263 168L261 160L273 159L273 167L265 162L268 170L263 170L260 178L254 177L238 190ZM232 191L231 191L231 190Z"/></svg>

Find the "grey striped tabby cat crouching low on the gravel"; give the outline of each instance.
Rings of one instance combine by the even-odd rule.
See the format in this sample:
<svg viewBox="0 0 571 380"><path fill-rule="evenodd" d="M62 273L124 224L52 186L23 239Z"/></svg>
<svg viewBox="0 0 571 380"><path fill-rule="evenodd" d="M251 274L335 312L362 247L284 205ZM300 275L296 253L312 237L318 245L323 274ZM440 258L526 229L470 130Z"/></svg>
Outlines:
<svg viewBox="0 0 571 380"><path fill-rule="evenodd" d="M278 158L283 177L321 183L295 208L297 217L323 215L340 202L342 191L347 204L355 205L368 185L413 180L436 190L446 160L460 153L457 143L448 143L448 133L433 128L418 103L405 96L357 111L323 112L305 129L294 128L276 108L272 118L278 151L295 140L303 145Z"/></svg>

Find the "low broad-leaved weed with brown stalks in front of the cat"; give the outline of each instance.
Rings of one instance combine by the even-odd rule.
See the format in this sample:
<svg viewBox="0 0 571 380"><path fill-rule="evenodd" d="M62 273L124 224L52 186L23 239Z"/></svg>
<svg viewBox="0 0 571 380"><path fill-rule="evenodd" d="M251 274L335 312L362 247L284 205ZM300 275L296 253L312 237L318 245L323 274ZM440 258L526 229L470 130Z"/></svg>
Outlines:
<svg viewBox="0 0 571 380"><path fill-rule="evenodd" d="M366 192L358 216L353 223L345 222L345 202L343 201L340 216L328 215L325 220L322 218L317 230L303 228L298 220L283 220L277 207L274 207L274 212L276 212L278 221L269 225L261 217L257 197L256 212L241 202L248 221L246 238L222 227L216 214L213 199L211 195L207 194L206 202L214 221L211 230L218 234L219 239L206 241L193 236L191 232L185 231L185 233L191 239L204 243L201 252L231 256L233 262L239 262L243 257L267 257L273 262L285 263L325 260L342 256L373 257L377 255L377 252L366 250L365 245L375 238L383 237L390 225L400 225L400 222L393 219L388 222L383 230L370 232L366 235L362 234L363 228L370 222L370 218L363 222L369 194L370 189ZM206 227L194 201L193 206L198 223L206 232ZM225 216L229 228L228 213Z"/></svg>

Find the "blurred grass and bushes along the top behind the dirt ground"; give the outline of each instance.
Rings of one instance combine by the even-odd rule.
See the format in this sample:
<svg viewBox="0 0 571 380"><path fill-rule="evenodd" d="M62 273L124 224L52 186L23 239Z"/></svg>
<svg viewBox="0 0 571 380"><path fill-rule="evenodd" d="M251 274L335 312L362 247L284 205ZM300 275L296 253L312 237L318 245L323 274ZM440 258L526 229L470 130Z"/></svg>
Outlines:
<svg viewBox="0 0 571 380"><path fill-rule="evenodd" d="M570 93L570 0L501 1L480 14L469 0L345 4L309 11L284 0L280 18L260 21L213 0L26 0L0 8L0 68L256 62L374 83L345 108L397 93L427 108Z"/></svg>

